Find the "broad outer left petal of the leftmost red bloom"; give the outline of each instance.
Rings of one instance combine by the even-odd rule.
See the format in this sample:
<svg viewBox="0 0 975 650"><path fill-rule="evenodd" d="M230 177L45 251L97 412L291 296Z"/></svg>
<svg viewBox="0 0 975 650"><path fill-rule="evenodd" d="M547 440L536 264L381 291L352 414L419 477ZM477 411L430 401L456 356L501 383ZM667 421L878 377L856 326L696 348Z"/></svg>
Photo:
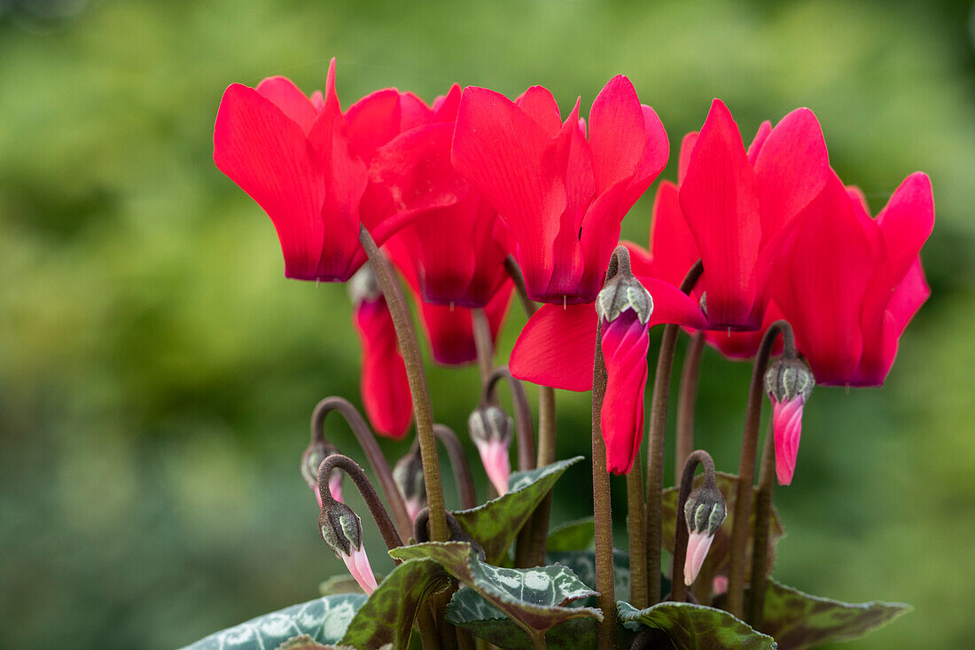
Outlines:
<svg viewBox="0 0 975 650"><path fill-rule="evenodd" d="M253 88L234 84L216 114L214 162L271 218L285 274L316 279L325 237L324 183L301 127ZM336 255L351 258L359 245L358 222L333 223L330 235Z"/></svg>

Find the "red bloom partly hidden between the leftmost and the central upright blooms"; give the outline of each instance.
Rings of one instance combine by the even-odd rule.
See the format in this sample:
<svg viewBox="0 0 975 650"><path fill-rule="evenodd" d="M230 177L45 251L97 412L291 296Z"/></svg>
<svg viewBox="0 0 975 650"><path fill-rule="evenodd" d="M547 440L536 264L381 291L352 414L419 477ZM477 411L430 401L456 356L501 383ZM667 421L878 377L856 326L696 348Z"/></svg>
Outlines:
<svg viewBox="0 0 975 650"><path fill-rule="evenodd" d="M413 216L396 240L409 250L423 302L483 307L508 279L508 232L450 163L459 102L454 85L434 102L430 123L378 150L370 177L389 188L396 210Z"/></svg>

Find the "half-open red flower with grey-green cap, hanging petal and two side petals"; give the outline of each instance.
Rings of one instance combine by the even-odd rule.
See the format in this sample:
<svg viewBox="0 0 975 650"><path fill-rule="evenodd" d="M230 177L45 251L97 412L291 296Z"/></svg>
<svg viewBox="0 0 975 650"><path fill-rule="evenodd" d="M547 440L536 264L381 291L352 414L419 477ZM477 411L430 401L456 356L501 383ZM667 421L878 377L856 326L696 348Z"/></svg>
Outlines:
<svg viewBox="0 0 975 650"><path fill-rule="evenodd" d="M606 470L630 470L643 440L643 390L649 328L660 323L705 327L704 315L677 287L630 273L626 248L616 250L620 270L597 305L542 305L529 319L511 352L515 377L566 390L593 386L596 329L603 318L606 389L602 427ZM615 287L625 283L626 292ZM646 302L643 302L645 295ZM597 312L600 312L598 314Z"/></svg>

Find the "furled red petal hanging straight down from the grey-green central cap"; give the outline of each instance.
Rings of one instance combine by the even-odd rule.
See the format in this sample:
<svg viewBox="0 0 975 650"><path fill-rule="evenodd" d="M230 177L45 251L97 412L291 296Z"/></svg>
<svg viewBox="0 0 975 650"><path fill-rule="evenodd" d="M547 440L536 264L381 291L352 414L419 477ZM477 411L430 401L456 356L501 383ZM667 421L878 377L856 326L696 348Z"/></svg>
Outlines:
<svg viewBox="0 0 975 650"><path fill-rule="evenodd" d="M633 467L643 439L648 327L632 311L603 323L606 389L600 417L606 445L606 471L625 474Z"/></svg>

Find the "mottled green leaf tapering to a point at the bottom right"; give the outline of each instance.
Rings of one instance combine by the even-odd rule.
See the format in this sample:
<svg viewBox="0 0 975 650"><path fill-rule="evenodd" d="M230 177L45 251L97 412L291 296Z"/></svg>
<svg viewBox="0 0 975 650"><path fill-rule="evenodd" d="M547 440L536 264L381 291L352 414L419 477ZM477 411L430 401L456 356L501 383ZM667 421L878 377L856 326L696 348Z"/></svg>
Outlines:
<svg viewBox="0 0 975 650"><path fill-rule="evenodd" d="M775 637L782 650L801 650L859 638L912 609L899 602L848 603L820 598L769 580L761 627Z"/></svg>

